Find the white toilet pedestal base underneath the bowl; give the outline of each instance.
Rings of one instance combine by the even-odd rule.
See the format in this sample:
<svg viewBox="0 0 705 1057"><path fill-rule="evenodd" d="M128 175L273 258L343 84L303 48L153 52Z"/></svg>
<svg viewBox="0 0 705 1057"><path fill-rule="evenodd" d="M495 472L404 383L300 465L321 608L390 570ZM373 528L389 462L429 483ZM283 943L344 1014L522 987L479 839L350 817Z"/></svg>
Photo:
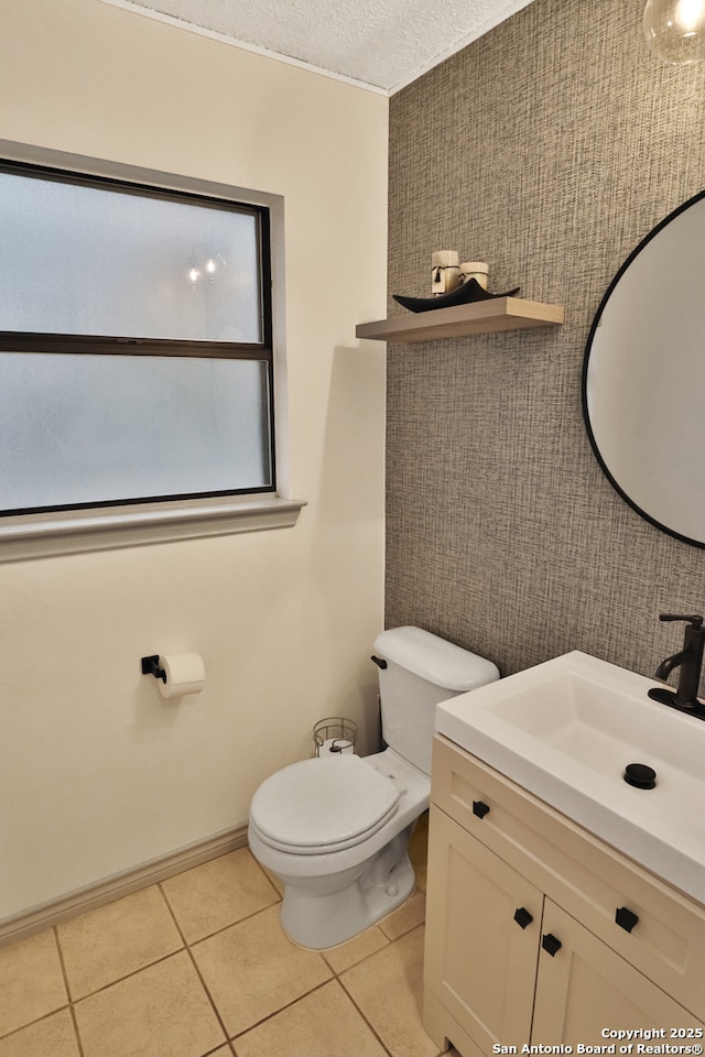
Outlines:
<svg viewBox="0 0 705 1057"><path fill-rule="evenodd" d="M296 879L284 880L281 924L286 935L301 947L324 950L344 944L391 914L409 898L414 889L414 869L406 848L408 827L376 856L357 878L338 876L336 891L312 890ZM330 882L330 878L326 879Z"/></svg>

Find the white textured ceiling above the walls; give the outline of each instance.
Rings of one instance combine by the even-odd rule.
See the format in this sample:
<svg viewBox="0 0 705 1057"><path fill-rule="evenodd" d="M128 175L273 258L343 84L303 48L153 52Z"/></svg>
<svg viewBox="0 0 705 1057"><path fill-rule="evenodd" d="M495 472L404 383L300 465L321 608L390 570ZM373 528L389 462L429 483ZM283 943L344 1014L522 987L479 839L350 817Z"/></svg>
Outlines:
<svg viewBox="0 0 705 1057"><path fill-rule="evenodd" d="M531 0L102 0L391 94Z"/></svg>

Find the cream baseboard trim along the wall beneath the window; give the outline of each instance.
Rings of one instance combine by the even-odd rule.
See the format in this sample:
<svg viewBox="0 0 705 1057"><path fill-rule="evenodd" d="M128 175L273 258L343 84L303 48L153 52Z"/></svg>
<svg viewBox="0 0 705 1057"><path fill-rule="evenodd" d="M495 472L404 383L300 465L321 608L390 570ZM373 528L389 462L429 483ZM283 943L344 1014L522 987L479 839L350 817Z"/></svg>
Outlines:
<svg viewBox="0 0 705 1057"><path fill-rule="evenodd" d="M58 925L78 914L85 914L86 911L94 911L106 903L112 903L113 900L119 900L123 895L139 892L140 889L147 889L150 884L165 881L176 873L182 873L192 867L199 867L229 851L245 848L246 844L247 822L241 822L214 837L187 844L185 848L169 852L159 859L152 859L132 870L113 874L111 878L87 885L85 889L78 889L58 900L52 900L50 903L43 903L41 906L8 917L0 922L0 947L24 939L43 928Z"/></svg>

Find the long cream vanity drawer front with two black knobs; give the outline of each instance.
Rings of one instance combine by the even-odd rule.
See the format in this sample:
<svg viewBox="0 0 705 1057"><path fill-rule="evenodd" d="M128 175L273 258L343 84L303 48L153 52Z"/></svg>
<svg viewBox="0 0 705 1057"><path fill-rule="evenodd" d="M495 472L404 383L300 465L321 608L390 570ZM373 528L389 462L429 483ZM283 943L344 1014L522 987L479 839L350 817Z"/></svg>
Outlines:
<svg viewBox="0 0 705 1057"><path fill-rule="evenodd" d="M434 738L431 796L612 950L705 1018L705 907L441 735Z"/></svg>

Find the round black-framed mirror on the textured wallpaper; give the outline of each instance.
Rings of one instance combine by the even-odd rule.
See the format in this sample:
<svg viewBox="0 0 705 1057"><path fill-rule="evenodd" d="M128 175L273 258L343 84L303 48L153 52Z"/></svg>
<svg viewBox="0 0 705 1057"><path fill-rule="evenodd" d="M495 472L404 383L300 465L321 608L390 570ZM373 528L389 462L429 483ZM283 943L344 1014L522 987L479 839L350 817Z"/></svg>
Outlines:
<svg viewBox="0 0 705 1057"><path fill-rule="evenodd" d="M662 220L590 328L583 413L603 470L642 517L705 547L705 192Z"/></svg>

